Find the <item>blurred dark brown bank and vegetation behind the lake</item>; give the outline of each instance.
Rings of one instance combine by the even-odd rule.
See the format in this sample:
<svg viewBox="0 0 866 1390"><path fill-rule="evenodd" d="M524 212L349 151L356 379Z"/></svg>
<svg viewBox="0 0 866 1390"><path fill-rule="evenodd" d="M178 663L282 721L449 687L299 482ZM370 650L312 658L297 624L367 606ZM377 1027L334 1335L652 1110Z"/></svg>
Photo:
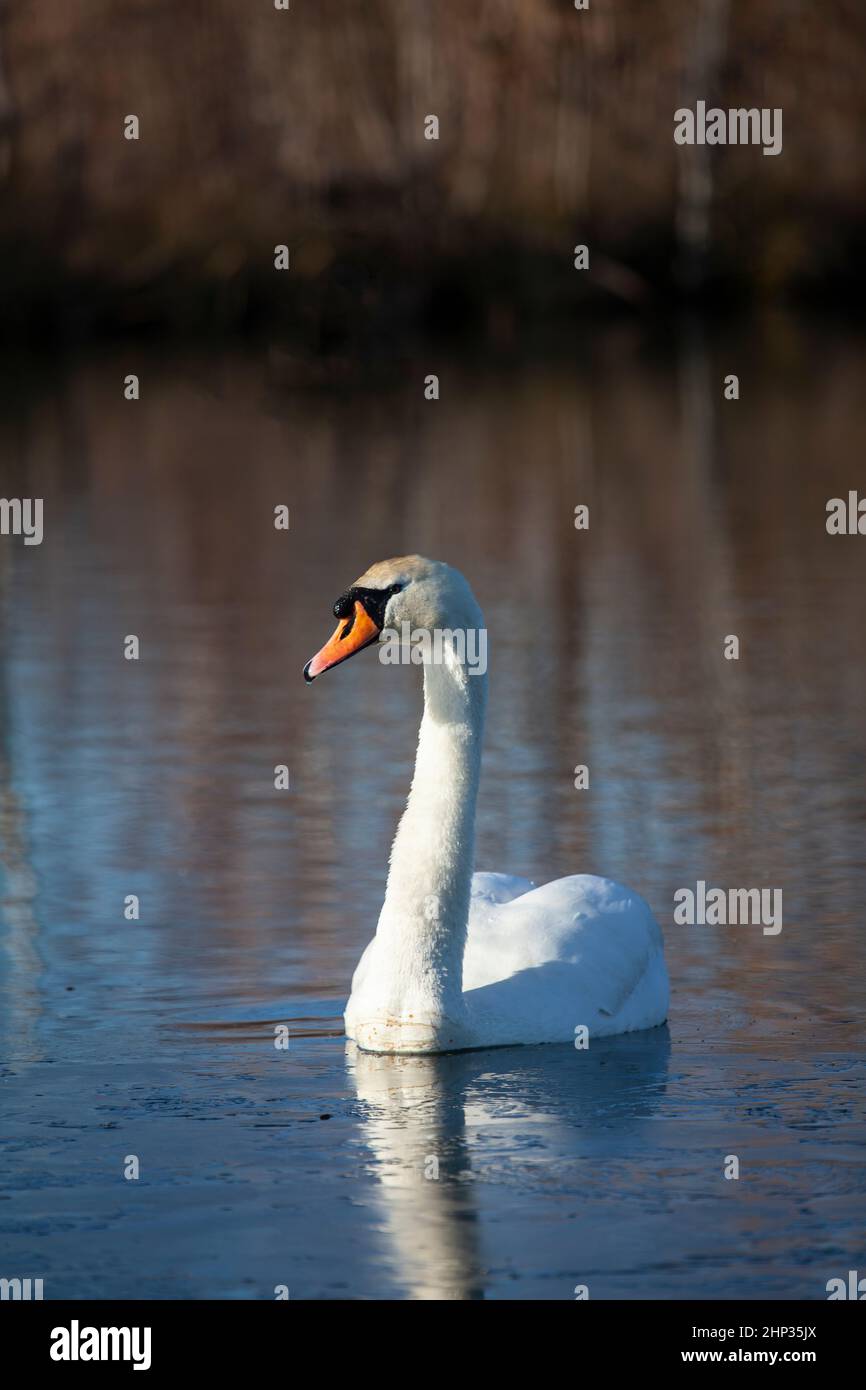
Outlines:
<svg viewBox="0 0 866 1390"><path fill-rule="evenodd" d="M3 318L265 321L329 352L406 324L507 345L588 304L844 304L865 67L860 0L4 0ZM783 153L676 146L698 99L781 107Z"/></svg>

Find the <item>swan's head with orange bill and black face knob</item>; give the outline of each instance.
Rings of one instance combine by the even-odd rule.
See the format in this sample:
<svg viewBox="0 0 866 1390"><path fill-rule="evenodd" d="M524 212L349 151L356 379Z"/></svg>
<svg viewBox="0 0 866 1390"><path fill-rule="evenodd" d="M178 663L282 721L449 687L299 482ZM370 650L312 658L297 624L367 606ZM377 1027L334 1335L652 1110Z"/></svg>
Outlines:
<svg viewBox="0 0 866 1390"><path fill-rule="evenodd" d="M379 639L386 628L402 631L481 630L484 619L459 570L421 555L379 560L341 594L334 605L336 631L307 662L304 680L313 681L331 666Z"/></svg>

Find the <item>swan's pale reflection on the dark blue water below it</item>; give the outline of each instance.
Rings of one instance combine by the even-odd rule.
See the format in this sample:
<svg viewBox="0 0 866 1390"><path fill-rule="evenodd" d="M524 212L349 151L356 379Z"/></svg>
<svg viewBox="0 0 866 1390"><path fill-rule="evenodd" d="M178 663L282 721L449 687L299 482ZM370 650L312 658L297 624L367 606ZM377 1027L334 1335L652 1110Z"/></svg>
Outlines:
<svg viewBox="0 0 866 1390"><path fill-rule="evenodd" d="M634 1151L667 1086L667 1027L571 1047L378 1056L346 1044L393 1279L409 1298L485 1297L489 1182ZM484 1169L485 1183L475 1182ZM598 1169L595 1169L598 1180ZM591 1184L588 1191L591 1190ZM575 1226L580 1234L580 1225ZM575 1264L580 1251L575 1250Z"/></svg>

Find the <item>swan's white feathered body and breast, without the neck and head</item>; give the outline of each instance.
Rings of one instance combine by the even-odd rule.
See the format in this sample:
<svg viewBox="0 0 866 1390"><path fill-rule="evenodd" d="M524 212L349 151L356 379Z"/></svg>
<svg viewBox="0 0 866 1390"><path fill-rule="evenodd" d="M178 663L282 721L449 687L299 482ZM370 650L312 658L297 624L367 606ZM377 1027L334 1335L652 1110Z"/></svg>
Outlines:
<svg viewBox="0 0 866 1390"><path fill-rule="evenodd" d="M474 874L457 1008L382 1015L377 940L346 1006L348 1036L373 1052L566 1042L581 1024L598 1038L667 1017L662 933L644 899L610 878L574 874L535 888Z"/></svg>

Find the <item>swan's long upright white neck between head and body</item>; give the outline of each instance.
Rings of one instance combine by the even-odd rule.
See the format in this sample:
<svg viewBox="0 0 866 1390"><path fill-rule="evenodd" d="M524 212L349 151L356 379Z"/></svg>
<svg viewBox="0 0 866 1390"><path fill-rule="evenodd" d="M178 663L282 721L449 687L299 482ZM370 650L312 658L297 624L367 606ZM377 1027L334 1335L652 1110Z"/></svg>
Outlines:
<svg viewBox="0 0 866 1390"><path fill-rule="evenodd" d="M377 929L377 986L392 1013L463 1012L463 952L487 674L424 666L424 717Z"/></svg>

